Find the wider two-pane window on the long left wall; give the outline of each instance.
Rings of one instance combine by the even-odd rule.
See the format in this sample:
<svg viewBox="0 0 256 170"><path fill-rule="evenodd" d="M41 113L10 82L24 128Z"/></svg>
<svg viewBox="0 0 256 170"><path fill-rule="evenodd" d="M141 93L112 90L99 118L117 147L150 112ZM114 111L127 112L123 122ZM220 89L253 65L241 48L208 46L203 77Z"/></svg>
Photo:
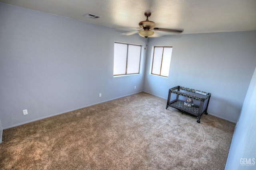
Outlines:
<svg viewBox="0 0 256 170"><path fill-rule="evenodd" d="M114 76L139 74L140 45L116 43L114 45Z"/></svg>

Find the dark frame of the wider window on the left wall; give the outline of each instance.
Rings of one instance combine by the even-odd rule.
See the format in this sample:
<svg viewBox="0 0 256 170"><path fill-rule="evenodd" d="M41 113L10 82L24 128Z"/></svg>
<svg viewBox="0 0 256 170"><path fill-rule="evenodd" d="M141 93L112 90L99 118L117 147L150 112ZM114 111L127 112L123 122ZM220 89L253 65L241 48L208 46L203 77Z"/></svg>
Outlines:
<svg viewBox="0 0 256 170"><path fill-rule="evenodd" d="M142 45L137 45L137 44L130 44L130 43L121 43L121 42L114 42L114 44L124 44L127 45L127 51L126 51L126 69L125 69L125 74L114 74L114 64L113 64L113 76L126 76L126 75L132 75L132 74L140 74L140 64L141 64L141 57L142 57ZM127 74L127 70L128 70L128 54L129 54L129 45L133 45L133 46L138 46L140 47L140 61L138 64L138 72L136 73L129 73ZM114 61L114 60L113 60Z"/></svg>

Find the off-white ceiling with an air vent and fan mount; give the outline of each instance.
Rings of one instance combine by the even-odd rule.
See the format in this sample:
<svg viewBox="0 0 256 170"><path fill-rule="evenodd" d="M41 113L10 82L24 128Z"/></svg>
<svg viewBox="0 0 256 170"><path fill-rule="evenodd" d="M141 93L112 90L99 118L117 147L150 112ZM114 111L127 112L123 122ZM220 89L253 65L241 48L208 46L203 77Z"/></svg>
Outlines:
<svg viewBox="0 0 256 170"><path fill-rule="evenodd" d="M0 0L6 4L132 31L144 12L182 34L256 30L256 0ZM86 18L91 13L98 19ZM125 29L128 28L128 29Z"/></svg>

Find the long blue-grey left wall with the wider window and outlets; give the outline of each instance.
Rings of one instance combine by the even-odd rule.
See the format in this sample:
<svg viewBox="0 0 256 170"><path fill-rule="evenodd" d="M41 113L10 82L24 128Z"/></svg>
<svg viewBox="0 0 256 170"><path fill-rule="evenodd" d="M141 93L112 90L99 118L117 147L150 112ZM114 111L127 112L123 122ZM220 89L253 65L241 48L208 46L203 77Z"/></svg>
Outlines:
<svg viewBox="0 0 256 170"><path fill-rule="evenodd" d="M143 37L119 33L0 3L1 127L143 91L144 57L141 74L113 77L114 41L145 44Z"/></svg>

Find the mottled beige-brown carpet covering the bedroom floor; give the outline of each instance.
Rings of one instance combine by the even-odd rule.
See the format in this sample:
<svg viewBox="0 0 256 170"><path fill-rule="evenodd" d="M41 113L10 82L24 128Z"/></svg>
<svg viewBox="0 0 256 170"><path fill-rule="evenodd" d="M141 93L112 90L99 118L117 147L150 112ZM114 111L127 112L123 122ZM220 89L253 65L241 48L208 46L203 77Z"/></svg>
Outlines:
<svg viewBox="0 0 256 170"><path fill-rule="evenodd" d="M235 124L139 93L4 130L0 169L223 170Z"/></svg>

